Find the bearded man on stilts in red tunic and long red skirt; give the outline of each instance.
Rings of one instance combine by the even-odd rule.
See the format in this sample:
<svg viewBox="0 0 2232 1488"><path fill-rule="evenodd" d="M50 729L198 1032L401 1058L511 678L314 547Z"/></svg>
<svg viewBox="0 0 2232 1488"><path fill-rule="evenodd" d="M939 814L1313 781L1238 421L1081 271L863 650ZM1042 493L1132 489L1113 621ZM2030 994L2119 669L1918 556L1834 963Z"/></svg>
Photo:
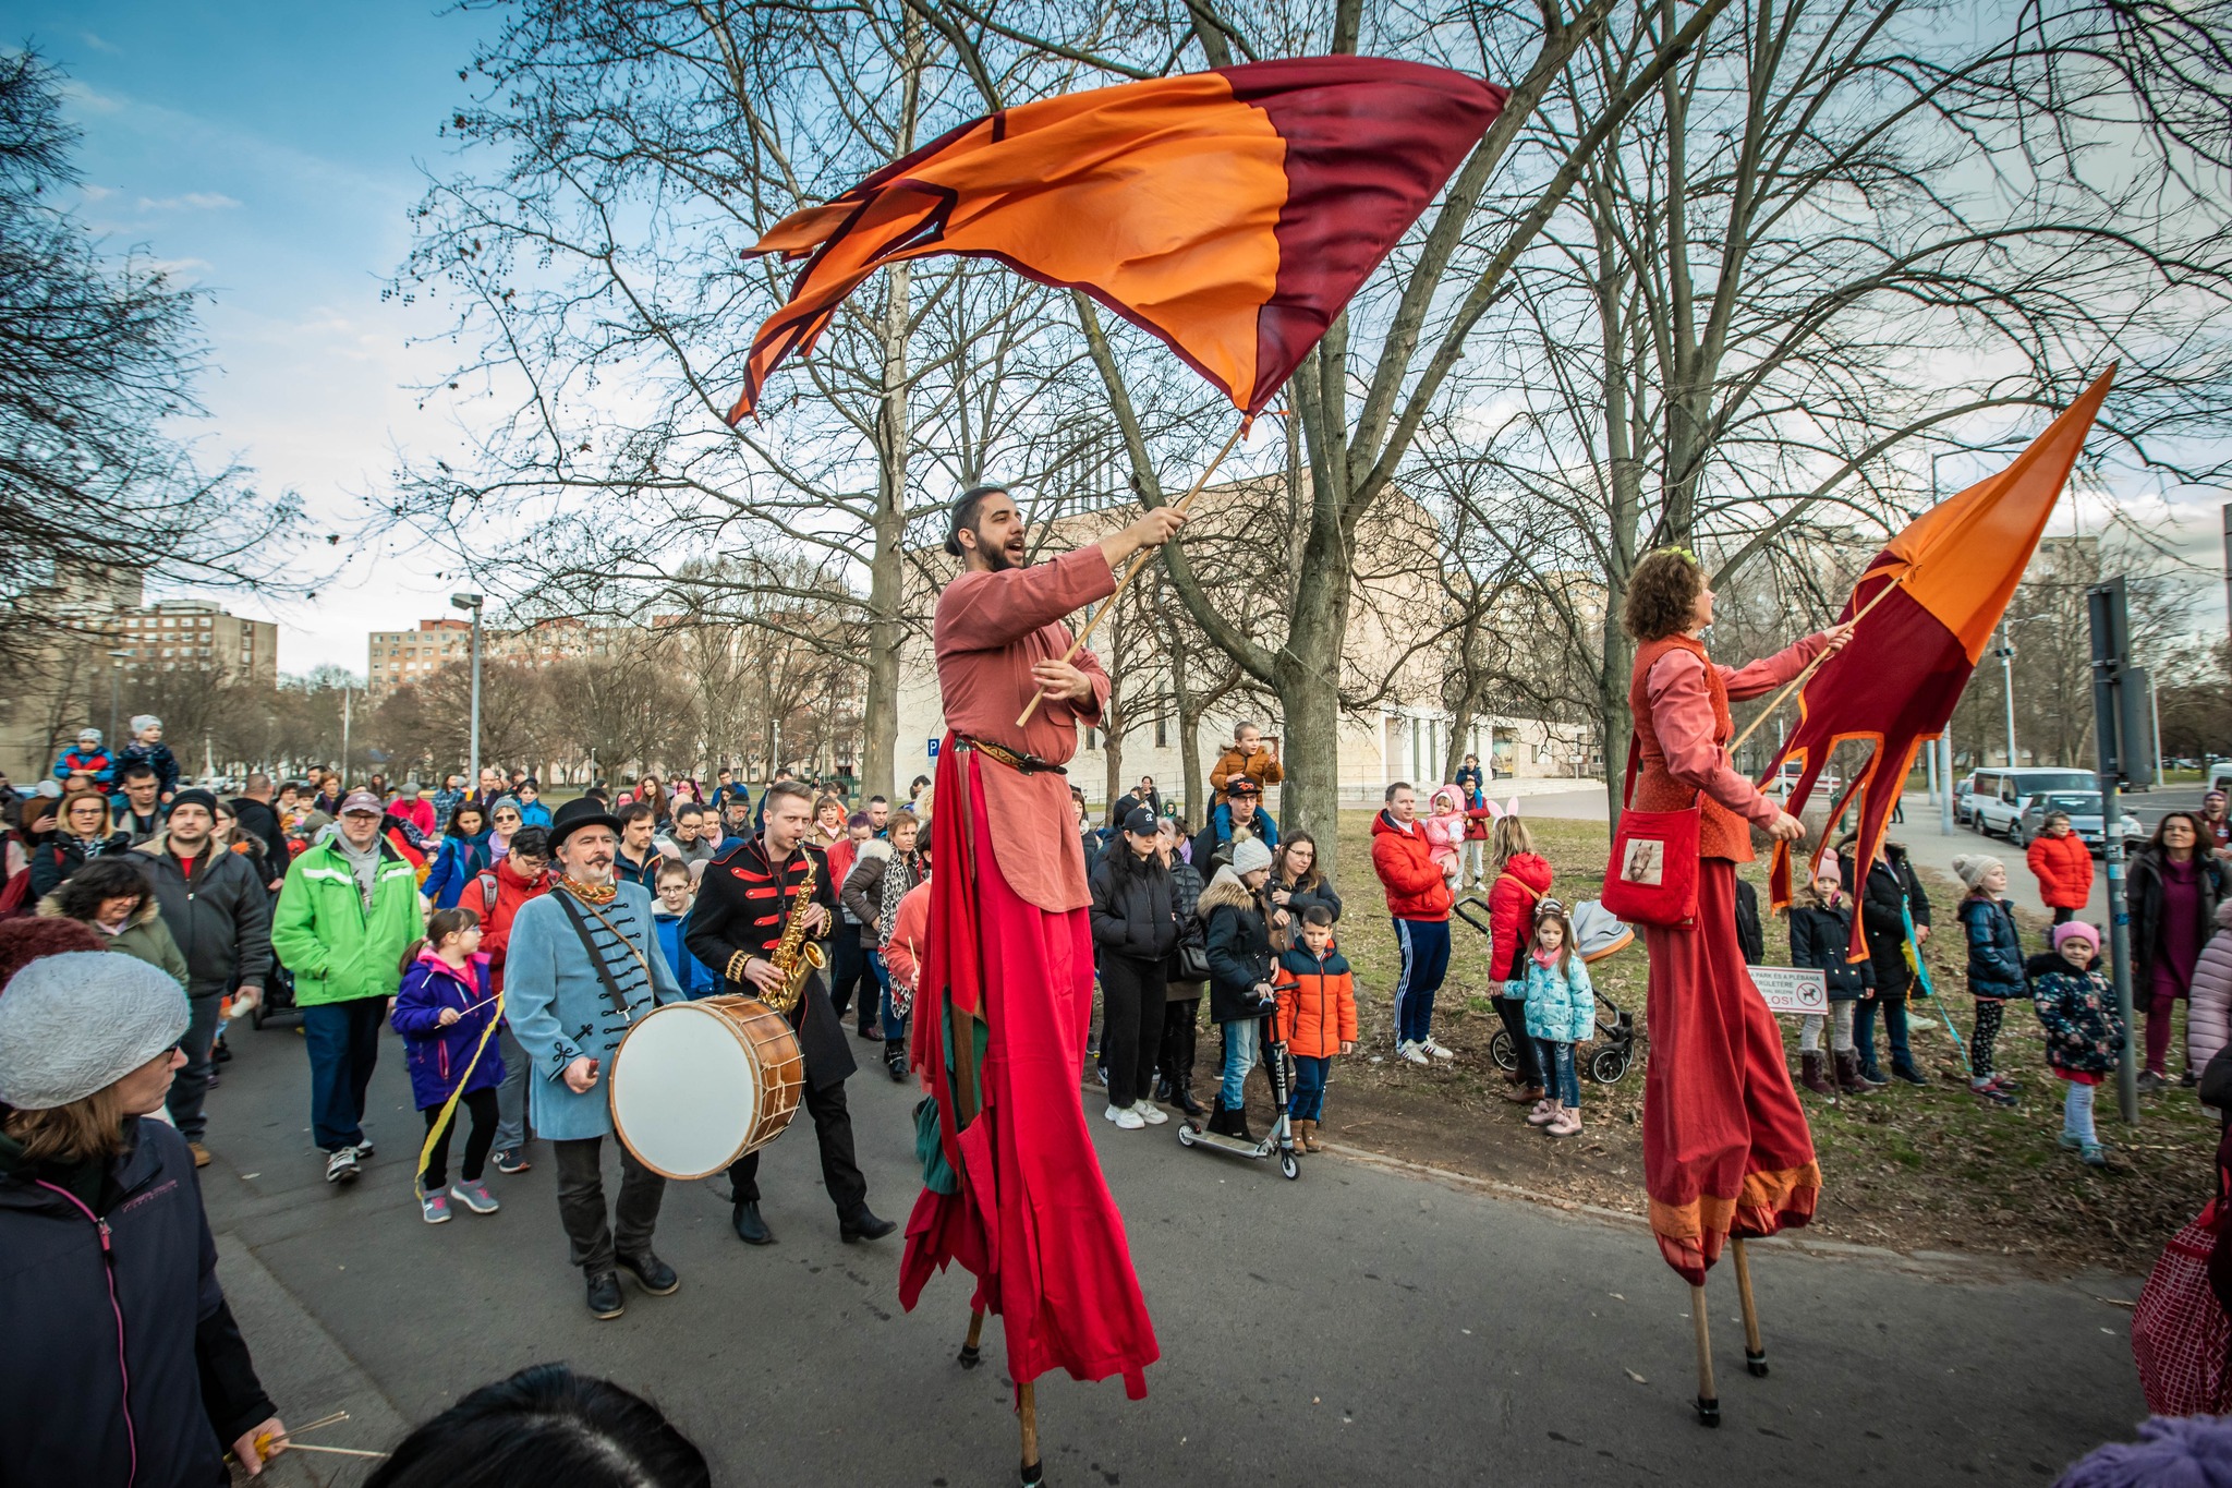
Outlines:
<svg viewBox="0 0 2232 1488"><path fill-rule="evenodd" d="M1024 567L1022 513L1007 491L978 486L953 504L946 538L962 576L933 625L949 734L911 1051L935 1102L924 1107L926 1185L906 1225L899 1301L913 1310L953 1260L978 1276L962 1359L975 1361L982 1314L1000 1314L1027 1484L1038 1481L1031 1381L1054 1368L1120 1374L1138 1399L1158 1356L1078 1093L1094 1006L1091 895L1062 765L1078 725L1100 721L1109 678L1091 651L1065 660L1062 616L1105 600L1114 567L1161 547L1183 520L1149 511Z"/></svg>

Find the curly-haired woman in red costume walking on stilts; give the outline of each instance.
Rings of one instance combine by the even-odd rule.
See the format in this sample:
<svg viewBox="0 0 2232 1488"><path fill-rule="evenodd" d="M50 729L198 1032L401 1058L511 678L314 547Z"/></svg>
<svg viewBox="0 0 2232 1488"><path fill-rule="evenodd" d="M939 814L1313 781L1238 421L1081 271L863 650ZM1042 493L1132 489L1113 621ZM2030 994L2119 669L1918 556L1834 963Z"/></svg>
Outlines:
<svg viewBox="0 0 2232 1488"><path fill-rule="evenodd" d="M1788 683L1824 649L1844 647L1850 627L1808 636L1739 669L1705 656L1701 638L1710 625L1712 587L1696 558L1661 549L1636 564L1623 627L1636 642L1627 703L1636 727L1632 763L1641 770L1627 805L1638 812L1694 805L1701 814L1696 919L1645 926L1652 1062L1643 1086L1643 1182L1658 1252L1692 1287L1699 1419L1719 1426L1705 1272L1734 1238L1745 1354L1752 1372L1763 1374L1743 1240L1803 1225L1821 1194L1781 1028L1736 946L1736 863L1752 859L1750 828L1792 843L1806 828L1736 772L1728 756L1734 732L1728 705Z"/></svg>

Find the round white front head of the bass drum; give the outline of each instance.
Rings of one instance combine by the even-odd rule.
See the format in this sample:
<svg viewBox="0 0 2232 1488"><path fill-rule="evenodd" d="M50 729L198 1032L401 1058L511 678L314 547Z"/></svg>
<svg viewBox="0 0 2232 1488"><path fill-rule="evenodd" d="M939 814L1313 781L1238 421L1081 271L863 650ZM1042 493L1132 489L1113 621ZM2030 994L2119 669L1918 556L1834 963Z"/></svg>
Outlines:
<svg viewBox="0 0 2232 1488"><path fill-rule="evenodd" d="M708 1178L737 1156L759 1107L759 1069L714 1008L672 1002L612 1062L612 1120L647 1167Z"/></svg>

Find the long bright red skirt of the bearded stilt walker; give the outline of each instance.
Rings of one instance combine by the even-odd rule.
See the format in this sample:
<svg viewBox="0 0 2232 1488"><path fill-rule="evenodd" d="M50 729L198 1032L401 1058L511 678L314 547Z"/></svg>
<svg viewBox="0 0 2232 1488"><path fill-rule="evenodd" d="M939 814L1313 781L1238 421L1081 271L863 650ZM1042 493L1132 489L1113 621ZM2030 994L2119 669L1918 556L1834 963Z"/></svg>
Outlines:
<svg viewBox="0 0 2232 1488"><path fill-rule="evenodd" d="M958 1260L978 1276L971 1305L1000 1314L1016 1383L1054 1368L1071 1379L1123 1374L1125 1392L1141 1399L1143 1370L1161 1347L1078 1091L1094 1013L1091 921L1083 908L1049 915L1009 888L993 859L978 767L1002 770L951 743L937 761L937 872L913 1051L940 1098L946 1160L962 1191L924 1189L915 1200L899 1303L911 1312L924 1283ZM949 1002L982 1008L991 1035L982 1109L962 1131L953 1129L937 1031Z"/></svg>

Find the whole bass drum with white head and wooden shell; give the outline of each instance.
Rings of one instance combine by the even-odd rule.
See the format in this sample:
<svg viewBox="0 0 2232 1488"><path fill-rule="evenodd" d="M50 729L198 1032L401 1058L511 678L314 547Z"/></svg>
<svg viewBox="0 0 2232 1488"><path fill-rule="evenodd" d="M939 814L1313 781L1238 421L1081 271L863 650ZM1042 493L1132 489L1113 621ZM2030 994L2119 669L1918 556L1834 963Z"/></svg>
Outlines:
<svg viewBox="0 0 2232 1488"><path fill-rule="evenodd" d="M670 1002L612 1053L612 1129L661 1178L710 1178L797 1115L806 1055L757 997Z"/></svg>

